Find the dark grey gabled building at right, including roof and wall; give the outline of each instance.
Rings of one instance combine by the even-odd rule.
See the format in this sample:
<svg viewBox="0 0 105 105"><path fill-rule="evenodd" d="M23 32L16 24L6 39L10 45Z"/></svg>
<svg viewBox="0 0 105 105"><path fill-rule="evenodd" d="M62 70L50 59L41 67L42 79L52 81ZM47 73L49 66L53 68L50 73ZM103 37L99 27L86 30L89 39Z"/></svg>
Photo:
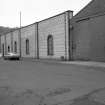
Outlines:
<svg viewBox="0 0 105 105"><path fill-rule="evenodd" d="M105 61L105 0L92 0L71 21L73 59Z"/></svg>

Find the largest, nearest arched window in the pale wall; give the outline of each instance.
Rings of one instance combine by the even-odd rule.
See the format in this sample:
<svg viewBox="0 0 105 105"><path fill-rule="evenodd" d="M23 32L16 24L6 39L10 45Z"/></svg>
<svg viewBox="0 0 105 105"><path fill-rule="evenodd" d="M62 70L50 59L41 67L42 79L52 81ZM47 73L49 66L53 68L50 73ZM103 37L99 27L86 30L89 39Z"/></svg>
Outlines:
<svg viewBox="0 0 105 105"><path fill-rule="evenodd" d="M53 51L53 36L49 35L47 38L47 53L48 55L53 55L54 51Z"/></svg>

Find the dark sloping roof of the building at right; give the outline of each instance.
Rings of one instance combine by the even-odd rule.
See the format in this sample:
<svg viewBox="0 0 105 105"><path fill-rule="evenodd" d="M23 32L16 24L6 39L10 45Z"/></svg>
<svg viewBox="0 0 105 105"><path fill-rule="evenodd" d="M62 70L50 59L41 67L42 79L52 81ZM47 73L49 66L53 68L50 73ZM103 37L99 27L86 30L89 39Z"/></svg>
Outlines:
<svg viewBox="0 0 105 105"><path fill-rule="evenodd" d="M87 6L78 12L74 18L88 18L100 13L105 13L105 0L92 0Z"/></svg>

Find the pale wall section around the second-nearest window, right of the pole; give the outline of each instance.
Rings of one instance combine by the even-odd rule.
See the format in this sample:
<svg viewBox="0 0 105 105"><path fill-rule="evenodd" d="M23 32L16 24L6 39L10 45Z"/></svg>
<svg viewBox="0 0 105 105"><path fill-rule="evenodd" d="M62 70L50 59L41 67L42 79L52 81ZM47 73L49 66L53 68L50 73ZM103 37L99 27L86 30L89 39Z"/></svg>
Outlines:
<svg viewBox="0 0 105 105"><path fill-rule="evenodd" d="M21 55L22 57L36 58L36 29L35 24L21 29ZM29 39L30 54L26 54L26 39Z"/></svg>

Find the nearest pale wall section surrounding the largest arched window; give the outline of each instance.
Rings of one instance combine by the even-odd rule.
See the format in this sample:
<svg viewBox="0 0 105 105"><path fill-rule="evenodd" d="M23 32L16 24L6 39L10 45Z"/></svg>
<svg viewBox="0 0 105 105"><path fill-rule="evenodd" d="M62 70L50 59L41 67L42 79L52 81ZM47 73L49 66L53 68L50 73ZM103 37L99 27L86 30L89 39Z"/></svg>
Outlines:
<svg viewBox="0 0 105 105"><path fill-rule="evenodd" d="M65 15L59 15L39 22L39 57L59 59L65 56ZM47 37L53 36L54 55L47 55Z"/></svg>

